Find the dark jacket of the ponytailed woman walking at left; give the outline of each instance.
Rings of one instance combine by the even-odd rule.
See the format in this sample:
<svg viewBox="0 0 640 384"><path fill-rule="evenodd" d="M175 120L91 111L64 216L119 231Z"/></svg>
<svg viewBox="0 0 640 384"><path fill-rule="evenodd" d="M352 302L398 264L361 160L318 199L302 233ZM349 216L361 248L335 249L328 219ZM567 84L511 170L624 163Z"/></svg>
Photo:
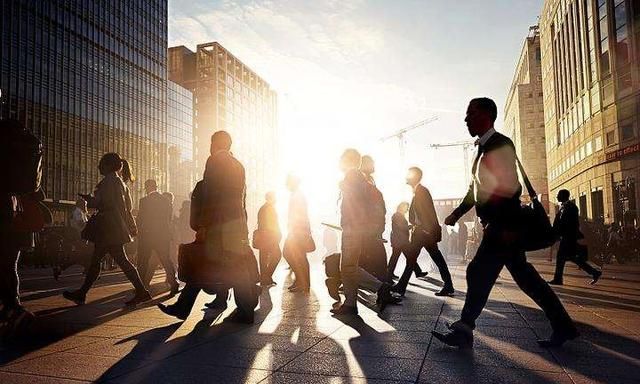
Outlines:
<svg viewBox="0 0 640 384"><path fill-rule="evenodd" d="M135 221L131 215L129 188L115 173L106 175L87 201L89 208L95 208L100 215L100 233L97 246L121 245L132 240L131 232Z"/></svg>

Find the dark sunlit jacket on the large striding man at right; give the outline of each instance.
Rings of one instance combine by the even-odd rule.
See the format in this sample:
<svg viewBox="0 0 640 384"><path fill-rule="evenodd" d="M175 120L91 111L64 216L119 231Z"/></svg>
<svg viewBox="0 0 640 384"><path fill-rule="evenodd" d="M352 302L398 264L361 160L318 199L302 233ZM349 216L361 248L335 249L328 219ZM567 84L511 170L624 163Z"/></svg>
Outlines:
<svg viewBox="0 0 640 384"><path fill-rule="evenodd" d="M516 152L508 137L496 132L478 148L477 173L469 190L453 211L460 219L474 206L483 224L517 222L522 187L516 170Z"/></svg>

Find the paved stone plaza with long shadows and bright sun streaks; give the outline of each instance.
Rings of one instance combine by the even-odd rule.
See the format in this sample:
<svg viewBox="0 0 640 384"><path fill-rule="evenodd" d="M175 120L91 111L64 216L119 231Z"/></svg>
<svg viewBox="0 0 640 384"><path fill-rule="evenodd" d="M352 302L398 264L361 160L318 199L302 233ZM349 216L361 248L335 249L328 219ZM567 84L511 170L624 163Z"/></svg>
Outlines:
<svg viewBox="0 0 640 384"><path fill-rule="evenodd" d="M504 270L479 320L475 349L462 352L430 333L460 313L466 285L456 260L449 260L455 297L433 295L433 272L411 281L402 305L382 315L361 305L352 320L331 316L317 260L309 295L283 291L290 277L281 264L279 284L263 291L253 326L222 322L232 303L223 313L201 311L211 299L205 294L185 322L155 305L123 309L132 290L118 272L104 274L87 305L75 307L61 293L79 286L79 270L58 282L49 270L24 270L24 302L38 319L25 338L0 347L0 383L640 382L640 267L606 266L595 286L567 268L565 285L554 289L582 337L562 349L536 344L549 325ZM551 277L545 257L531 260ZM156 275L154 303L175 300L163 296L163 280Z"/></svg>

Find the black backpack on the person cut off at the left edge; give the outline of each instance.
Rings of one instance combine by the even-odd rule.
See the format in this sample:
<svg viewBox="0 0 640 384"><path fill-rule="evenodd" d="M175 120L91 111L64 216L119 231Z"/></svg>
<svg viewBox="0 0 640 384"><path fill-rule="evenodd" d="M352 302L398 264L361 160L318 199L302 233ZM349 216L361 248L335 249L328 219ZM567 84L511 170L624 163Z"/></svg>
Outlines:
<svg viewBox="0 0 640 384"><path fill-rule="evenodd" d="M6 138L2 145L2 163L7 177L2 192L18 195L36 192L42 180L42 143L22 127L7 125L6 128L9 132L2 132Z"/></svg>

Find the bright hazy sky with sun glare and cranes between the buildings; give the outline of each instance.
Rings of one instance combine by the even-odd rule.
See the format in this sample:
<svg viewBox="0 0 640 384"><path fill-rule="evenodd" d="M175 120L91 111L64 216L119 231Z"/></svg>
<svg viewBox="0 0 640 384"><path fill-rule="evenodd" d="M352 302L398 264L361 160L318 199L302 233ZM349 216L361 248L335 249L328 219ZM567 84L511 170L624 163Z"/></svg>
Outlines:
<svg viewBox="0 0 640 384"><path fill-rule="evenodd" d="M461 148L469 99L498 104L543 0L169 1L169 45L218 41L279 96L283 173L303 176L311 210L335 211L345 147L372 154L388 210L410 197L405 168L418 165L436 198L466 189ZM398 142L380 138L437 115ZM332 219L331 219L332 220Z"/></svg>

